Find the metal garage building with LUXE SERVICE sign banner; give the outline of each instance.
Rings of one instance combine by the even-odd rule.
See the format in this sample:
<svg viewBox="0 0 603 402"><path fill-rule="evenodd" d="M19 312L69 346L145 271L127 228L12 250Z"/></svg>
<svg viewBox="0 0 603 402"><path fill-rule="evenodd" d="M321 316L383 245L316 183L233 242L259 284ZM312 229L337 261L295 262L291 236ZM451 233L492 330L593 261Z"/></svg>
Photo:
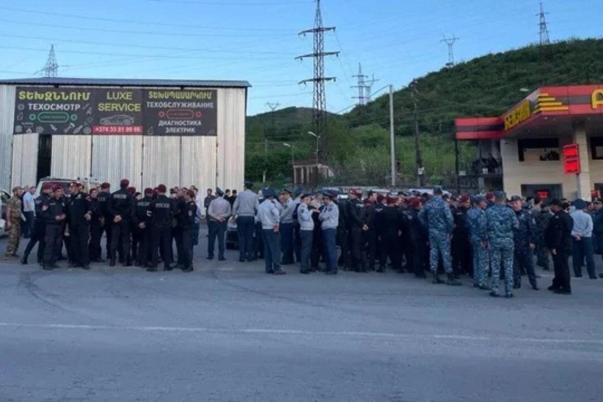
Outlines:
<svg viewBox="0 0 603 402"><path fill-rule="evenodd" d="M247 81L0 80L0 188L242 186Z"/></svg>

